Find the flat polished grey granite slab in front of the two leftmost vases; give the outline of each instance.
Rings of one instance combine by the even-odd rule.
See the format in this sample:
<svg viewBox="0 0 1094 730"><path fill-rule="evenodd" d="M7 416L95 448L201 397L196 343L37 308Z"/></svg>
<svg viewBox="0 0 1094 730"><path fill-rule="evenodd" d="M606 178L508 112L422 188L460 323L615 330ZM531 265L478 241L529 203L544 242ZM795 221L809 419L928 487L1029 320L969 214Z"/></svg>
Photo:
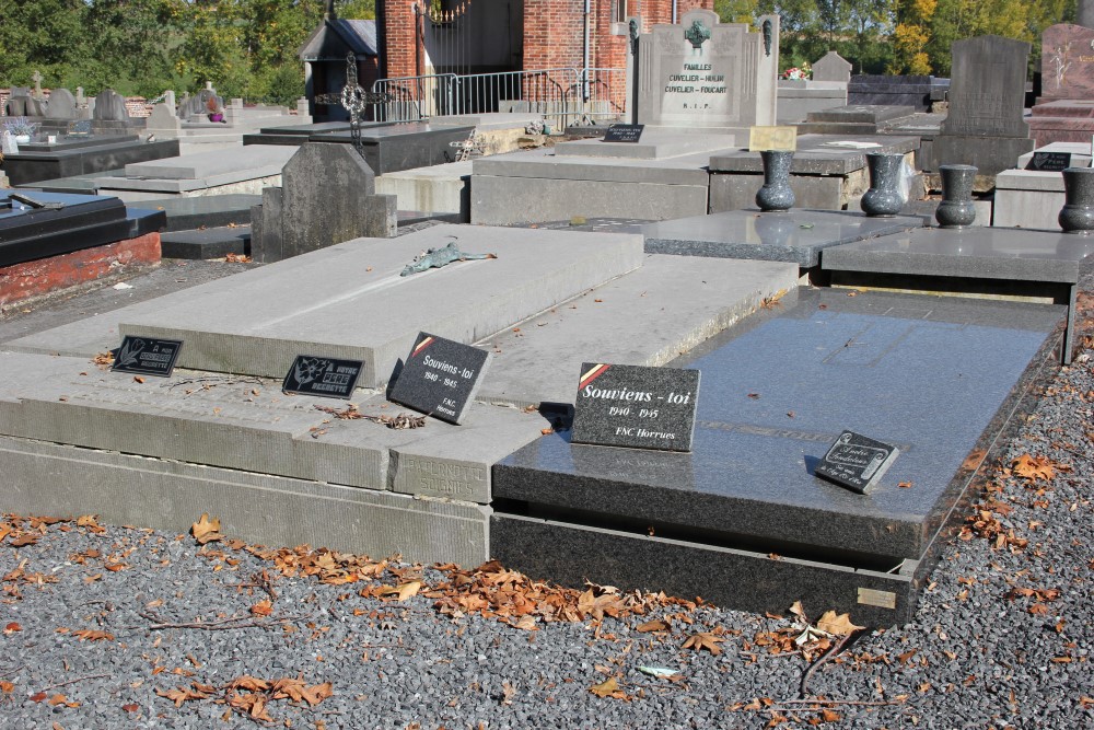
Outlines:
<svg viewBox="0 0 1094 730"><path fill-rule="evenodd" d="M815 270L829 246L922 225L921 218L868 218L827 210L760 212L731 210L709 216L647 223L645 251L652 254L793 262Z"/></svg>

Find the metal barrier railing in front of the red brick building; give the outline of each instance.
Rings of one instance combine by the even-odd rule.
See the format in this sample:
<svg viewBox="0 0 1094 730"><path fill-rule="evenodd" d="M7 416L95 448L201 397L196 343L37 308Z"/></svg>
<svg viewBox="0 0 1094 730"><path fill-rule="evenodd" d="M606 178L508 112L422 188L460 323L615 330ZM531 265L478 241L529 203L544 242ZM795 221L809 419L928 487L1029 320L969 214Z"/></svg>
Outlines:
<svg viewBox="0 0 1094 730"><path fill-rule="evenodd" d="M435 73L379 79L386 94L377 121L417 121L459 114L532 113L554 129L626 113L624 69L543 69L500 73Z"/></svg>

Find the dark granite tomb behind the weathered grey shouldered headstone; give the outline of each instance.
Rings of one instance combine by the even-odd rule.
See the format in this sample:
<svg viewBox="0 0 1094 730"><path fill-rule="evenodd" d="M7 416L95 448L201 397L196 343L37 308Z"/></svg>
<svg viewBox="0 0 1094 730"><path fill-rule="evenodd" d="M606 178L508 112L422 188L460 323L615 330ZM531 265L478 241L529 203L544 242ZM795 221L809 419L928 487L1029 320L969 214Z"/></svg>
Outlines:
<svg viewBox="0 0 1094 730"><path fill-rule="evenodd" d="M427 167L456 159L459 144L474 134L473 125L443 125L430 121L365 123L361 125L364 161L377 175ZM299 127L272 127L245 136L244 144L293 144L334 142L351 144L349 124L327 121Z"/></svg>

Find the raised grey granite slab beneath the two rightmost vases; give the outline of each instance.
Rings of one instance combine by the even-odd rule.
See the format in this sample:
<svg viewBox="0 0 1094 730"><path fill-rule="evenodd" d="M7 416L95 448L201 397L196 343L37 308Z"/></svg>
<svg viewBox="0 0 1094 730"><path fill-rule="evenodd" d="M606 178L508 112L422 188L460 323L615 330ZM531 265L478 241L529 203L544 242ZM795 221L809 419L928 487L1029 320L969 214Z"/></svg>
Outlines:
<svg viewBox="0 0 1094 730"><path fill-rule="evenodd" d="M1063 361L1074 349L1079 278L1094 267L1094 237L1008 228L921 228L825 252L831 283L901 291L1037 298L1066 304Z"/></svg>

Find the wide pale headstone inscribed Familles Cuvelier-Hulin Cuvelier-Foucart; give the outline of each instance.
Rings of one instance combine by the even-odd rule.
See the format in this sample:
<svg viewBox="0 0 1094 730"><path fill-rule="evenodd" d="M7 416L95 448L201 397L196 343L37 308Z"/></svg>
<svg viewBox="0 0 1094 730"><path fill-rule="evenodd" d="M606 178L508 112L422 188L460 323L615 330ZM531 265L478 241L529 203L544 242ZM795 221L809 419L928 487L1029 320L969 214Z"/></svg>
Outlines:
<svg viewBox="0 0 1094 730"><path fill-rule="evenodd" d="M709 10L678 25L654 25L639 38L639 124L689 129L747 129L776 124L779 16L759 32L720 23Z"/></svg>

